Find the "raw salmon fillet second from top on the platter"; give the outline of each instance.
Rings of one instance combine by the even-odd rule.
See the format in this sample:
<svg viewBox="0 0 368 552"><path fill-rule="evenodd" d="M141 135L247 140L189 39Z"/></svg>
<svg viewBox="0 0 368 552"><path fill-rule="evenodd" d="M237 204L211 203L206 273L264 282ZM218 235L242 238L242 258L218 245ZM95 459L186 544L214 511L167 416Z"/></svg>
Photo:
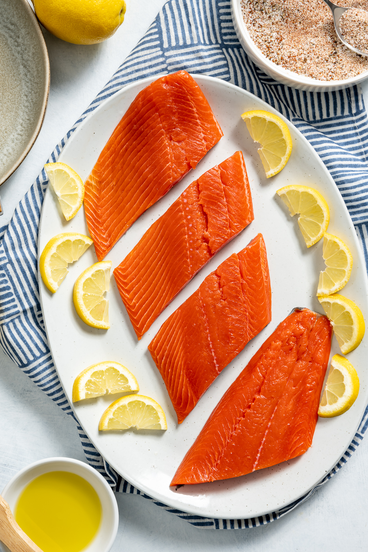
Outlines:
<svg viewBox="0 0 368 552"><path fill-rule="evenodd" d="M254 219L243 153L202 174L147 230L114 270L141 339L214 254Z"/></svg>

